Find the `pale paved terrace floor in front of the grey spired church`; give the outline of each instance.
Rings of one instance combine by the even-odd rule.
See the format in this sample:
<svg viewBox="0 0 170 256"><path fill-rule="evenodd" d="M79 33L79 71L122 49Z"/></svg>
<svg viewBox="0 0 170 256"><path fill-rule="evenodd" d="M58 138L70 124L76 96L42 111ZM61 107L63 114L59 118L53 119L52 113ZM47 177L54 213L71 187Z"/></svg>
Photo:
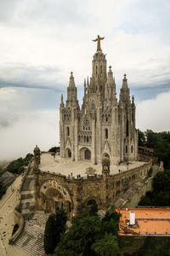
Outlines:
<svg viewBox="0 0 170 256"><path fill-rule="evenodd" d="M121 170L121 172L126 172L138 166L143 166L142 161L130 161L129 165L121 164L120 166L110 166L111 175L116 174ZM81 177L87 177L87 175L101 175L102 165L93 165L89 161L72 161L71 159L62 159L59 155L55 157L48 153L41 154L41 165L40 170L44 172L54 172L60 173L65 176L71 177L71 172L73 177L77 177L77 174L81 174Z"/></svg>

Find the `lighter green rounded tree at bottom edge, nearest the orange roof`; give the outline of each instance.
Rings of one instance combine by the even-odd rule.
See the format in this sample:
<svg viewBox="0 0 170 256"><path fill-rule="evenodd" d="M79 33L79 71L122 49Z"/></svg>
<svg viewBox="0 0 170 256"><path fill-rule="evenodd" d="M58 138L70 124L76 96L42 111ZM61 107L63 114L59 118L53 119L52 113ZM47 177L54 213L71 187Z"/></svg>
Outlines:
<svg viewBox="0 0 170 256"><path fill-rule="evenodd" d="M107 233L102 239L96 240L91 248L101 256L116 256L119 252L117 237Z"/></svg>

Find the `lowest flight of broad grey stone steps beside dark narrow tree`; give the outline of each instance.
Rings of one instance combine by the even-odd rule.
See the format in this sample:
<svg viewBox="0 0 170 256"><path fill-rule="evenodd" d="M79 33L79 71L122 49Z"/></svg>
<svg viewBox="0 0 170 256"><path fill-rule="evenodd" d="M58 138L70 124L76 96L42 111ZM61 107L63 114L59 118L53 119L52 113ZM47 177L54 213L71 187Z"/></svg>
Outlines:
<svg viewBox="0 0 170 256"><path fill-rule="evenodd" d="M26 221L24 230L19 238L14 241L14 245L21 250L33 256L42 256L44 230L37 225L30 224Z"/></svg>

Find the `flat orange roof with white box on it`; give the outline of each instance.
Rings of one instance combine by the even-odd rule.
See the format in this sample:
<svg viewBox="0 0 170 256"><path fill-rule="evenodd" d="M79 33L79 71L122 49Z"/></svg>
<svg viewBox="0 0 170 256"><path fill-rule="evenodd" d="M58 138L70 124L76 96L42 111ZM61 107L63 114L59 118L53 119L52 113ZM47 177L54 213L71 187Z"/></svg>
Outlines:
<svg viewBox="0 0 170 256"><path fill-rule="evenodd" d="M170 236L170 208L123 208L119 236ZM135 224L127 227L130 211L135 212Z"/></svg>

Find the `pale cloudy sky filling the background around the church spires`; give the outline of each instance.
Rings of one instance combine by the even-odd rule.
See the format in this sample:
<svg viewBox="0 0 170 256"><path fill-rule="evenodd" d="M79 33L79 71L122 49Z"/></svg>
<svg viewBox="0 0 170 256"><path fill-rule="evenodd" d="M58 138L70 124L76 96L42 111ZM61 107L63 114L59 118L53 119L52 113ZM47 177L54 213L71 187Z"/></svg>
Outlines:
<svg viewBox="0 0 170 256"><path fill-rule="evenodd" d="M60 94L73 71L82 103L98 34L137 128L169 131L169 13L169 0L0 0L0 160L59 145Z"/></svg>

